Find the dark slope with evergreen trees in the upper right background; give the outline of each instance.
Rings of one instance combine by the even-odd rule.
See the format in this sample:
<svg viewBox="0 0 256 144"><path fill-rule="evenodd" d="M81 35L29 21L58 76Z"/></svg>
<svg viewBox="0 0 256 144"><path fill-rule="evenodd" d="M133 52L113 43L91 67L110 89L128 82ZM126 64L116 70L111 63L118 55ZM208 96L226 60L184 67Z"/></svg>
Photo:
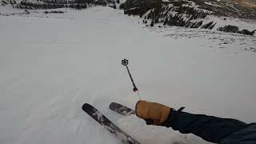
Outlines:
<svg viewBox="0 0 256 144"><path fill-rule="evenodd" d="M216 22L204 22L207 15L256 19L256 7L233 1L127 0L120 5L120 9L123 9L125 14L139 15L144 18L142 22L150 26L163 23L168 26L213 29ZM237 31L241 34L254 34L254 31L249 30Z"/></svg>

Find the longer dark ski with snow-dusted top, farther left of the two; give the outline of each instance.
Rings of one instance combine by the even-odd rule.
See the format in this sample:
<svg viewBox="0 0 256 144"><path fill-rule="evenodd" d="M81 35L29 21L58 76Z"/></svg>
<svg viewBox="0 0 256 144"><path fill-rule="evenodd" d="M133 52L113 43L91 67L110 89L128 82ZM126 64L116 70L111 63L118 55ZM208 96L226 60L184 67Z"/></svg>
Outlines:
<svg viewBox="0 0 256 144"><path fill-rule="evenodd" d="M91 106L88 103L85 103L82 106L82 110L84 110L87 114L90 115L91 118L94 118L100 125L103 126L104 129L108 130L111 134L114 134L117 138L119 138L124 144L139 144L133 138L131 138L126 132L122 131L118 126L114 125L110 119L106 118L104 114L98 111L94 106Z"/></svg>

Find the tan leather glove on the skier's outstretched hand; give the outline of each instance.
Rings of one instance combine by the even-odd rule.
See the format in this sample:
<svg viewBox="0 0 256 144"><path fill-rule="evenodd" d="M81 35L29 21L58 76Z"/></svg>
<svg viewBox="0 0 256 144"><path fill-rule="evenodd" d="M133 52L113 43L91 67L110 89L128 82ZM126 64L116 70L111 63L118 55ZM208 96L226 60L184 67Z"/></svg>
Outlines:
<svg viewBox="0 0 256 144"><path fill-rule="evenodd" d="M154 125L161 125L166 122L170 107L164 106L156 102L138 101L135 107L135 112L138 118L154 121Z"/></svg>

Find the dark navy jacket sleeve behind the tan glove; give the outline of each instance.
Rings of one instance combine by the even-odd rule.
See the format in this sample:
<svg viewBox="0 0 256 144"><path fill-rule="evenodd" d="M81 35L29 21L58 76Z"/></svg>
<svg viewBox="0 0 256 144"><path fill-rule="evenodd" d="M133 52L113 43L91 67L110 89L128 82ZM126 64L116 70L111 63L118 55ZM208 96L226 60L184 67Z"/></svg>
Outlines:
<svg viewBox="0 0 256 144"><path fill-rule="evenodd" d="M171 110L163 126L172 127L182 134L192 133L208 142L220 143L234 132L243 130L248 125L230 118L217 118L204 114L189 114Z"/></svg>

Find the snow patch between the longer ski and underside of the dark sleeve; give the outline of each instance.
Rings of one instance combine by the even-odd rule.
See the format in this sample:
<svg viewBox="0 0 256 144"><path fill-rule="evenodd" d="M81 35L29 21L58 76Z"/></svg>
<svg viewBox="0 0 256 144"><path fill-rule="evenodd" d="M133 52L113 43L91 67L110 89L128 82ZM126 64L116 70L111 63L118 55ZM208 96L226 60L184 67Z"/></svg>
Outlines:
<svg viewBox="0 0 256 144"><path fill-rule="evenodd" d="M146 122L135 115L118 120L118 126L142 144L206 144L194 134L181 134L165 126L146 125Z"/></svg>

